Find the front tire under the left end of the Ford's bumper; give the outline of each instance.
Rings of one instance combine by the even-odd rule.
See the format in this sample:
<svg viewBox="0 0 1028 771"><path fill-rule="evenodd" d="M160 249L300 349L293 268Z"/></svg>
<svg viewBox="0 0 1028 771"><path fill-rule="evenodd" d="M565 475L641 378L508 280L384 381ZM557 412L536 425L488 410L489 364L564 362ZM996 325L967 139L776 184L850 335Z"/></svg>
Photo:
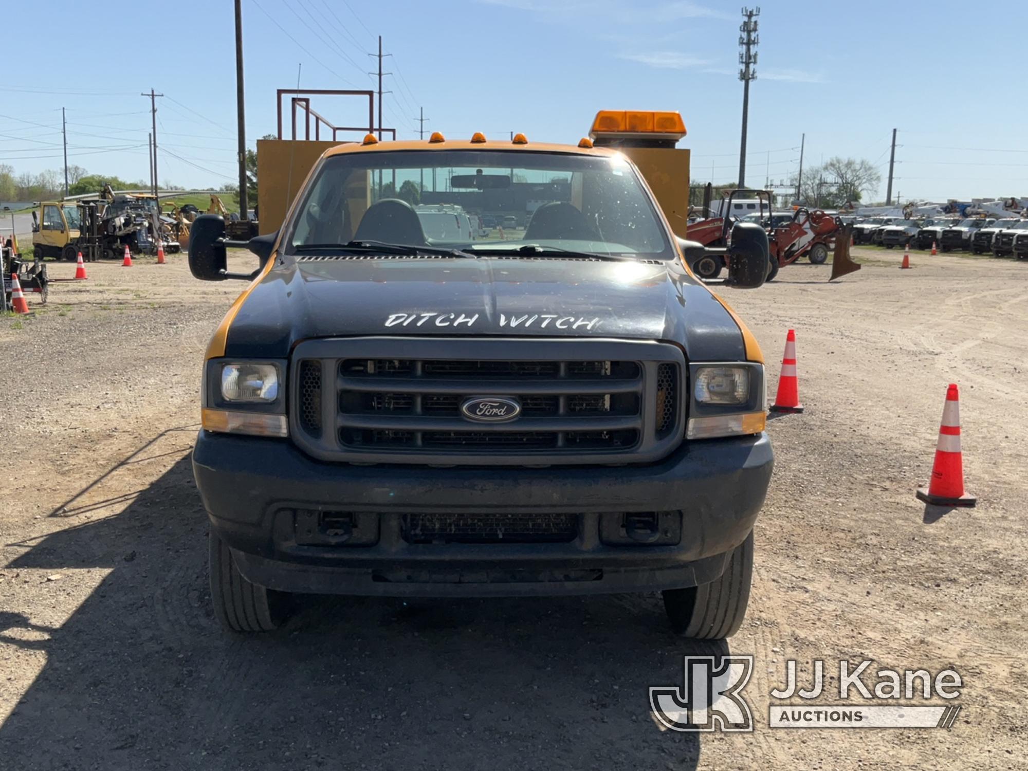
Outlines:
<svg viewBox="0 0 1028 771"><path fill-rule="evenodd" d="M247 581L218 536L208 536L214 615L233 632L269 632L286 620L286 595Z"/></svg>

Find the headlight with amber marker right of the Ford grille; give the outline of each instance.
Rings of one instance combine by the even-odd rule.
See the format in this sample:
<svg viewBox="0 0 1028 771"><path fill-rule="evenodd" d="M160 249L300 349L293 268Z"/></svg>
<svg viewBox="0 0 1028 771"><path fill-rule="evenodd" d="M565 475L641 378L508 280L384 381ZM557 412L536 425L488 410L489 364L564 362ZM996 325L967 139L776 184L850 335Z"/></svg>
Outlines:
<svg viewBox="0 0 1028 771"><path fill-rule="evenodd" d="M759 434L767 424L764 365L755 362L690 366L687 439Z"/></svg>

